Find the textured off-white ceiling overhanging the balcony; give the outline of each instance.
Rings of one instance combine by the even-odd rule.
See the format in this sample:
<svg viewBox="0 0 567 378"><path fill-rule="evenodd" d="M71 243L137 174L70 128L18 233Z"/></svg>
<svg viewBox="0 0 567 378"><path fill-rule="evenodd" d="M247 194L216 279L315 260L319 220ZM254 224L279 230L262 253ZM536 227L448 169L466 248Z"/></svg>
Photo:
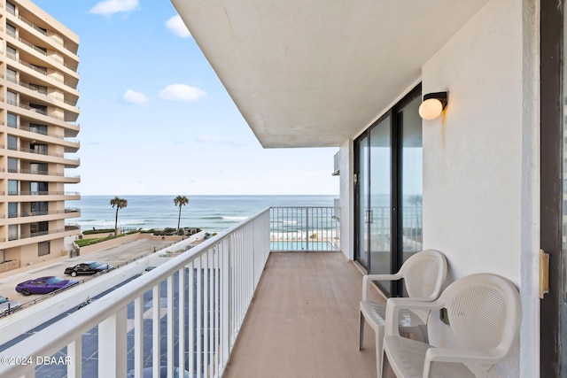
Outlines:
<svg viewBox="0 0 567 378"><path fill-rule="evenodd" d="M262 146L336 147L486 0L172 0Z"/></svg>

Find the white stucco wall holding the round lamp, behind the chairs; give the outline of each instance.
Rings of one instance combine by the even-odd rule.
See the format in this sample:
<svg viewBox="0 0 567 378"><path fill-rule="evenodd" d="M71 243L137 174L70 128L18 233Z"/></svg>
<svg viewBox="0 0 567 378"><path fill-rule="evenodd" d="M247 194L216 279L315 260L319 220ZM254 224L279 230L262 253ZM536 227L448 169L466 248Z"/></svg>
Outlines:
<svg viewBox="0 0 567 378"><path fill-rule="evenodd" d="M523 3L489 2L422 71L423 94L449 91L444 116L423 121L423 246L446 253L449 280L488 272L521 289L524 351L518 345L489 376L538 374L529 367L539 360L531 285L539 221L534 11ZM435 341L449 343L447 326L436 327Z"/></svg>

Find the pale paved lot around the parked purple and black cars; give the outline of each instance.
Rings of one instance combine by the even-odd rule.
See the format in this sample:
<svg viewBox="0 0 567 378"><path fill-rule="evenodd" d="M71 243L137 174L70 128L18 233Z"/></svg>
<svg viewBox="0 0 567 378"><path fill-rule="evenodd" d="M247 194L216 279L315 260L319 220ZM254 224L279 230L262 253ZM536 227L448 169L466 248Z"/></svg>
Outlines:
<svg viewBox="0 0 567 378"><path fill-rule="evenodd" d="M45 275L58 275L64 278L71 278L71 276L63 274L67 266L74 266L82 261L93 260L118 266L120 263L128 261L130 258L136 258L140 255L144 255L145 253L152 252L154 251L154 248L159 251L161 248L170 244L172 244L172 242L161 240L152 241L151 239L144 238L133 242L122 243L104 250L90 252L87 255L78 256L76 258L53 258L43 263L23 266L19 269L0 274L0 295L24 304L39 296L35 295L24 297L19 294L15 289L19 282L24 282Z"/></svg>

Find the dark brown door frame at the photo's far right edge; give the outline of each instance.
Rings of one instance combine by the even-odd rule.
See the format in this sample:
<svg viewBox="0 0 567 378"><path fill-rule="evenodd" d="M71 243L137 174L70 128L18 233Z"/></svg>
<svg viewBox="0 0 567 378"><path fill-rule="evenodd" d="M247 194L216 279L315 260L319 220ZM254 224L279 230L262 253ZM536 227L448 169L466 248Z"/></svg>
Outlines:
<svg viewBox="0 0 567 378"><path fill-rule="evenodd" d="M561 374L563 10L557 4L540 2L540 248L549 254L549 293L540 300L541 377Z"/></svg>

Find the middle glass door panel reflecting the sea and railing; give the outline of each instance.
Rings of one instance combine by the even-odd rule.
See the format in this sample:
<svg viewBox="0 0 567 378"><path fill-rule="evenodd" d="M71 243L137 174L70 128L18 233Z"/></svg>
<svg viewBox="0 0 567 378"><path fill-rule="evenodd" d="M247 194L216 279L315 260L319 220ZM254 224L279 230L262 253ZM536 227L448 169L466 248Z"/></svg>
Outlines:
<svg viewBox="0 0 567 378"><path fill-rule="evenodd" d="M392 267L392 118L370 130L369 251L370 273L390 274ZM378 282L390 293L389 282Z"/></svg>

